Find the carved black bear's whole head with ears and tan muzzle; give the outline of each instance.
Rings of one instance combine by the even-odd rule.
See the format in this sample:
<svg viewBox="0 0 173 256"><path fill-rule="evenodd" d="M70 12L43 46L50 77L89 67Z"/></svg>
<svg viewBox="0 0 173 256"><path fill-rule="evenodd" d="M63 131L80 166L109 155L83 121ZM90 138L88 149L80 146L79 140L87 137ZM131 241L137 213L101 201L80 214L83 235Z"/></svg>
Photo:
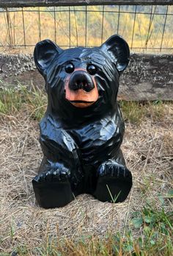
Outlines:
<svg viewBox="0 0 173 256"><path fill-rule="evenodd" d="M129 62L128 43L119 35L100 47L61 49L37 43L34 62L45 79L48 112L65 118L104 115L117 106L119 75Z"/></svg>

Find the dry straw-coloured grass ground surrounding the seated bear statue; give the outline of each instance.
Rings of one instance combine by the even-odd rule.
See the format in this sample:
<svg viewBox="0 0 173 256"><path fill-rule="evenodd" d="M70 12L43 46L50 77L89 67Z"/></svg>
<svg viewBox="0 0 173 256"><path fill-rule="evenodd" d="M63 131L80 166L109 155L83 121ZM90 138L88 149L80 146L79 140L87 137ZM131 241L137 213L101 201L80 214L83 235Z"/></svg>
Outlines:
<svg viewBox="0 0 173 256"><path fill-rule="evenodd" d="M163 106L162 118L146 117L139 126L125 124L122 151L133 174L133 189L125 202L113 205L87 194L69 205L44 210L37 206L32 178L42 152L38 122L26 113L0 116L0 252L12 252L18 244L33 248L46 239L76 238L120 231L147 200L161 207L159 195L172 188L173 107ZM168 202L164 206L170 210Z"/></svg>

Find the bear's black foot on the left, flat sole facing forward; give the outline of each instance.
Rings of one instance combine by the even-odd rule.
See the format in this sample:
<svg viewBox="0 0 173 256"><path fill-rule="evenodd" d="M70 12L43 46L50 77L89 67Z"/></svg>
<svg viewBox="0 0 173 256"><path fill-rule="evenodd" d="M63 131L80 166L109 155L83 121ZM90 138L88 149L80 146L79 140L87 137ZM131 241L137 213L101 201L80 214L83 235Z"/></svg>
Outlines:
<svg viewBox="0 0 173 256"><path fill-rule="evenodd" d="M70 171L54 168L32 179L37 202L41 207L63 207L74 199L70 185Z"/></svg>

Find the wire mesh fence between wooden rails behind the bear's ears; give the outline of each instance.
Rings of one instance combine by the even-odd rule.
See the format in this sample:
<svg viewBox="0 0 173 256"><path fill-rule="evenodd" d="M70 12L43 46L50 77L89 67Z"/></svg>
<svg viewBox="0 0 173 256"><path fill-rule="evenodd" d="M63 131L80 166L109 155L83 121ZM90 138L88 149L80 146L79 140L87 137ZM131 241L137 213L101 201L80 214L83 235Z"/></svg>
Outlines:
<svg viewBox="0 0 173 256"><path fill-rule="evenodd" d="M45 38L60 47L100 46L122 35L134 52L173 52L173 6L0 9L0 51L33 51Z"/></svg>

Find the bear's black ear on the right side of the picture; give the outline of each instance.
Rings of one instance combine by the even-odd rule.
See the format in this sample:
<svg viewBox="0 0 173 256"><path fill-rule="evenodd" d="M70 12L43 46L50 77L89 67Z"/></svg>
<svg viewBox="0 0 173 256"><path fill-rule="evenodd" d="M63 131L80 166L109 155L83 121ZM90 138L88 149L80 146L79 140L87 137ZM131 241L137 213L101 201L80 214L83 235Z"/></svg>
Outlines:
<svg viewBox="0 0 173 256"><path fill-rule="evenodd" d="M115 60L118 71L124 71L125 68L127 68L130 50L128 43L119 35L112 35L100 48L102 51L106 52L106 54L111 54L111 57Z"/></svg>

